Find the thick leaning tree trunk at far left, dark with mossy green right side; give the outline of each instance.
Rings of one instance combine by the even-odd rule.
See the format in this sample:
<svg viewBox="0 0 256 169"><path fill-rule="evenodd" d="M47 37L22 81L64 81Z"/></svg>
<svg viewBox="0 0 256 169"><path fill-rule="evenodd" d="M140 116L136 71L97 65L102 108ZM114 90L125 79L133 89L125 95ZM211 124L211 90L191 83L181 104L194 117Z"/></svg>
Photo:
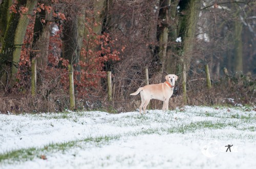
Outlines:
<svg viewBox="0 0 256 169"><path fill-rule="evenodd" d="M27 15L33 14L33 9L36 4L37 1L19 0L17 11L21 6L26 5L28 12L23 15L20 15L18 12L13 12L9 18L0 55L0 76L4 85L10 82L10 87L12 87L16 80L15 74L18 70L20 51L29 23Z"/></svg>

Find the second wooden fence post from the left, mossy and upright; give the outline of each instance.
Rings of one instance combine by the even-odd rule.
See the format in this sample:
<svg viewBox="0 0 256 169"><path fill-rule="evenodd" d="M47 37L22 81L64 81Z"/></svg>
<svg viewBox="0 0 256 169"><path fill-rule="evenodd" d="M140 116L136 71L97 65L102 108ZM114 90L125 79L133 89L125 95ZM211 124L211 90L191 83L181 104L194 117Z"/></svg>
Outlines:
<svg viewBox="0 0 256 169"><path fill-rule="evenodd" d="M70 95L70 109L75 108L75 89L74 89L74 74L73 65L69 65L69 95Z"/></svg>

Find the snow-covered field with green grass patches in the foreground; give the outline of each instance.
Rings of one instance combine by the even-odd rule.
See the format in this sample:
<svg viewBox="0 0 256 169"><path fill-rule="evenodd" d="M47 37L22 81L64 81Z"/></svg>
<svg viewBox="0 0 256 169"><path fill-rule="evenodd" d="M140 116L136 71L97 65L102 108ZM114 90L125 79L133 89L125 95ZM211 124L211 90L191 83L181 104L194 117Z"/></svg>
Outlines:
<svg viewBox="0 0 256 169"><path fill-rule="evenodd" d="M0 168L255 168L252 109L0 115Z"/></svg>

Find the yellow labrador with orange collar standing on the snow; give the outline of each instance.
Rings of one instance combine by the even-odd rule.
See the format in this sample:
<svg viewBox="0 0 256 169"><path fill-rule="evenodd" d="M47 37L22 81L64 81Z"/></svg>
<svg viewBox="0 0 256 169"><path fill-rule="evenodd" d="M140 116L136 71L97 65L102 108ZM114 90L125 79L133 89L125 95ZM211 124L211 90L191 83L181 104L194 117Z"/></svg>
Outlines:
<svg viewBox="0 0 256 169"><path fill-rule="evenodd" d="M163 110L168 110L169 98L174 93L175 81L178 79L178 76L175 74L168 74L165 76L166 81L154 85L146 85L142 88L139 88L136 92L130 95L137 95L140 93L141 104L140 104L140 114L143 107L143 112L145 114L146 106L150 103L151 99L158 99L163 101Z"/></svg>

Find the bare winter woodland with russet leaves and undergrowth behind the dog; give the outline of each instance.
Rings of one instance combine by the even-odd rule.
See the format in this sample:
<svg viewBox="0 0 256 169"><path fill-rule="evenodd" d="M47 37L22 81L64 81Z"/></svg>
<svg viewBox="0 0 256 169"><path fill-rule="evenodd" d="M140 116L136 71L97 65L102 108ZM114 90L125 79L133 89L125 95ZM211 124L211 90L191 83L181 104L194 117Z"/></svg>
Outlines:
<svg viewBox="0 0 256 169"><path fill-rule="evenodd" d="M254 0L1 0L0 111L134 110L179 76L170 107L256 103ZM36 90L31 90L36 62ZM70 107L73 67L75 106ZM205 65L211 88L207 88ZM112 72L108 101L106 72ZM186 93L185 93L186 91ZM230 99L231 98L231 99ZM151 101L151 108L162 103Z"/></svg>

